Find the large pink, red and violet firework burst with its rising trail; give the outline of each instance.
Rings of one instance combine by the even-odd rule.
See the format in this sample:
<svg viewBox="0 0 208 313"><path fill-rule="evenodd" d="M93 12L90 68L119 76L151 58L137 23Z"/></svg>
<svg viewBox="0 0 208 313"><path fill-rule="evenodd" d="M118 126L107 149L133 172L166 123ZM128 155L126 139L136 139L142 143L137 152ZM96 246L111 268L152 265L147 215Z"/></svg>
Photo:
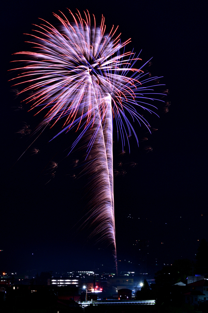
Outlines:
<svg viewBox="0 0 208 313"><path fill-rule="evenodd" d="M141 59L133 52L125 52L130 39L122 43L120 34L115 35L118 27L113 26L107 34L104 17L97 27L94 15L91 23L88 11L84 18L79 11L75 15L69 12L72 22L63 13L62 17L54 14L60 21L58 29L44 20L36 25L36 35L30 41L36 50L17 53L27 59L20 60L25 62L25 66L16 68L21 71L16 77L21 81L13 86L26 83L19 94L30 94L25 99L31 104L30 110L36 109L36 114L46 112L39 129L49 122L52 127L61 121L59 134L71 128L80 131L72 149L80 139L85 141L89 160L86 169L92 178L88 222L94 225L93 234L113 244L116 261L113 119L123 144L132 133L137 139L127 115L149 127L138 111L152 113L156 108L150 104L157 100L150 81L157 77L149 78L142 67L134 68Z"/></svg>

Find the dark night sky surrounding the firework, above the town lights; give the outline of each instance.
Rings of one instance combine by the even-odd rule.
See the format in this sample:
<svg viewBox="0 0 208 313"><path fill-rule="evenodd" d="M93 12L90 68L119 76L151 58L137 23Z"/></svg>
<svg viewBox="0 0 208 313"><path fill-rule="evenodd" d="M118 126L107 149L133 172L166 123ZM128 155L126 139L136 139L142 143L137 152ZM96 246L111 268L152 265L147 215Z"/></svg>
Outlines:
<svg viewBox="0 0 208 313"><path fill-rule="evenodd" d="M206 7L203 1L8 1L2 6L2 210L0 270L106 270L113 267L112 248L86 240L89 231L76 234L85 207L85 178L73 179L72 160L80 151L60 162L73 134L50 143L54 131L46 131L33 147L40 154L26 152L30 138L15 134L26 122L33 130L39 118L27 108L15 111L7 83L14 52L26 50L23 33L31 33L38 18L54 22L52 12L67 14L87 8L97 22L101 14L110 28L119 25L122 39L132 38L129 49L139 52L152 66L153 75L163 76L169 89L169 112L148 117L158 131L148 136L152 152L145 153L131 140L131 153L119 156L114 147L115 168L119 161L136 162L124 166L125 177L114 181L115 223L119 270L138 267L136 239L149 241L148 271L171 264L174 259L194 260L197 246L207 233L207 52ZM55 22L56 23L56 22ZM28 48L29 49L29 48ZM135 126L138 136L144 129ZM128 149L127 149L128 150ZM60 162L56 176L47 182L47 164ZM12 169L10 169L12 167ZM46 167L46 169L44 169ZM76 170L78 171L78 170ZM70 174L70 175L68 175ZM130 214L130 215L129 215ZM131 216L128 217L128 216ZM77 224L76 224L77 223ZM71 229L74 225L76 226ZM104 249L104 250L103 250ZM126 260L126 261L124 261ZM126 262L132 262L127 264ZM101 265L103 264L103 265Z"/></svg>

